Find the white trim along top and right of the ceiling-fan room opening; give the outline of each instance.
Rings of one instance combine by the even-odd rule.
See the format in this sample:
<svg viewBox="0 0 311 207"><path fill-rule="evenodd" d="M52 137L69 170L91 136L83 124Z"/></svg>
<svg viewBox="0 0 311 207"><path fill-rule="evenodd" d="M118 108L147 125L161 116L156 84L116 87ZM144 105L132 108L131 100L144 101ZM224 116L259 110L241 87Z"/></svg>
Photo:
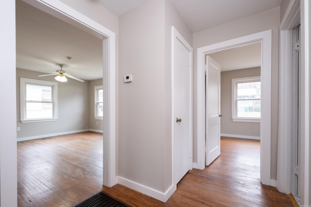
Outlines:
<svg viewBox="0 0 311 207"><path fill-rule="evenodd" d="M116 34L60 0L23 0L82 30L103 39L104 83L104 185L117 184L116 177Z"/></svg>

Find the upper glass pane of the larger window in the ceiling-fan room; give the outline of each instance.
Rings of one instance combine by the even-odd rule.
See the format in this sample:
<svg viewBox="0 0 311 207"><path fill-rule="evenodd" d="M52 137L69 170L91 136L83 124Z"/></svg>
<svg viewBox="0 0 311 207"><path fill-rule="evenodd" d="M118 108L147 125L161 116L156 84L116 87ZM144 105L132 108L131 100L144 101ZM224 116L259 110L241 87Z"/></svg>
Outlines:
<svg viewBox="0 0 311 207"><path fill-rule="evenodd" d="M27 101L52 101L52 87L42 85L26 85Z"/></svg>

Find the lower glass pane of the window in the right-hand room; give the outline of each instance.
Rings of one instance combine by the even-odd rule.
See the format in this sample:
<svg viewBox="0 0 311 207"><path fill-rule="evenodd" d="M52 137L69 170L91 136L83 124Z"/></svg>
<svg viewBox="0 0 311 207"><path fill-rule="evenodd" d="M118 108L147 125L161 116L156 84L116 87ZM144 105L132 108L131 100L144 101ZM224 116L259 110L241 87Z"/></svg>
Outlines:
<svg viewBox="0 0 311 207"><path fill-rule="evenodd" d="M238 100L238 117L260 118L260 100Z"/></svg>

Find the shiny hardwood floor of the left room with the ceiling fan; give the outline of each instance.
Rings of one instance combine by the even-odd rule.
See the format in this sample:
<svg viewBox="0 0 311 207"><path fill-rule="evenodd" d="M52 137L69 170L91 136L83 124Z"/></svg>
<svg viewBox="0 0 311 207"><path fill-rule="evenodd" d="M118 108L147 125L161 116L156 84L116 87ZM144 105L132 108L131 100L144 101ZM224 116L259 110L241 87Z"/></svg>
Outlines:
<svg viewBox="0 0 311 207"><path fill-rule="evenodd" d="M17 143L18 207L72 207L102 186L102 133Z"/></svg>

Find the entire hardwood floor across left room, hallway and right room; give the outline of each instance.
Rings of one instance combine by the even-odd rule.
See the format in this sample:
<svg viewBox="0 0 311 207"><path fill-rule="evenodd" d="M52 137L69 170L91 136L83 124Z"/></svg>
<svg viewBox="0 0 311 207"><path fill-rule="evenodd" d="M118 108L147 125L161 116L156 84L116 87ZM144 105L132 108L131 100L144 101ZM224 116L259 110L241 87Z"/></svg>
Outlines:
<svg viewBox="0 0 311 207"><path fill-rule="evenodd" d="M191 170L162 203L119 184L103 187L102 134L84 132L17 143L18 206L71 207L101 189L131 207L292 207L259 181L259 141L222 138L221 156Z"/></svg>

